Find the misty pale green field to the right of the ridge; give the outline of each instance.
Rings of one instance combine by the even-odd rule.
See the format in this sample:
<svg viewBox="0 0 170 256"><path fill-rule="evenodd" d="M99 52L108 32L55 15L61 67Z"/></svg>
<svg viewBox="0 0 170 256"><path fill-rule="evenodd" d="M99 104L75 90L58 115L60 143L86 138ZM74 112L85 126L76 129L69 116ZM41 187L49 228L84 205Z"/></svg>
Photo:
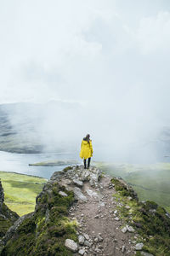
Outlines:
<svg viewBox="0 0 170 256"><path fill-rule="evenodd" d="M170 212L170 163L130 165L122 163L96 163L113 177L122 177L133 186L140 201L156 201Z"/></svg>

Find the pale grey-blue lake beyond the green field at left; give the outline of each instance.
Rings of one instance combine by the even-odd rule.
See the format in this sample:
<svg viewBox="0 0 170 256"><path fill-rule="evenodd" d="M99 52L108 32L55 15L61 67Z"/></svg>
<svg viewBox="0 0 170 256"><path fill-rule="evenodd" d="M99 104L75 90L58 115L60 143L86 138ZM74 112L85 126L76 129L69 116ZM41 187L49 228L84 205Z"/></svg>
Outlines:
<svg viewBox="0 0 170 256"><path fill-rule="evenodd" d="M78 152L46 153L46 154L16 154L0 151L0 171L18 172L38 177L50 178L54 172L63 170L66 166L29 166L48 160L77 160L81 163Z"/></svg>

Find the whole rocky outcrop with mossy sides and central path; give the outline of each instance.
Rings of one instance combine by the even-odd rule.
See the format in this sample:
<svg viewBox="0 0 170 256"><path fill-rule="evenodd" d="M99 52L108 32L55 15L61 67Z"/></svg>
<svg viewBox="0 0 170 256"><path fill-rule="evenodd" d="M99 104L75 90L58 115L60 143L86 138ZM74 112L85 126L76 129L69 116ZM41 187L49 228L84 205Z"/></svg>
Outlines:
<svg viewBox="0 0 170 256"><path fill-rule="evenodd" d="M35 212L6 232L0 255L168 256L169 234L167 212L139 202L121 178L68 166L44 185Z"/></svg>

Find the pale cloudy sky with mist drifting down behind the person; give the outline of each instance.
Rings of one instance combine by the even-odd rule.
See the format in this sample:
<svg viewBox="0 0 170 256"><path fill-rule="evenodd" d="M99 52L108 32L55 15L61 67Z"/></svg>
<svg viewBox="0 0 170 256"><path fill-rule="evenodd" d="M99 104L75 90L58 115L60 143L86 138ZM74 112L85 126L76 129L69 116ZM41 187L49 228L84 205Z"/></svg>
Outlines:
<svg viewBox="0 0 170 256"><path fill-rule="evenodd" d="M99 155L132 155L170 125L168 0L0 0L0 56L0 104L76 104L58 134L89 132Z"/></svg>

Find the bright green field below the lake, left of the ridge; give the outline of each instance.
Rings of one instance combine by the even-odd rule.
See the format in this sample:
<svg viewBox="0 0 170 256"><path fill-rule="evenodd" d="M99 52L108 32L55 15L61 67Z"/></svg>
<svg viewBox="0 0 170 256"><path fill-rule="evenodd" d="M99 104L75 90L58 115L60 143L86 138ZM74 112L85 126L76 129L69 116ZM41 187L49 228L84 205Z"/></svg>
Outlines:
<svg viewBox="0 0 170 256"><path fill-rule="evenodd" d="M20 216L33 212L36 196L42 191L47 179L14 172L1 172L5 204Z"/></svg>

